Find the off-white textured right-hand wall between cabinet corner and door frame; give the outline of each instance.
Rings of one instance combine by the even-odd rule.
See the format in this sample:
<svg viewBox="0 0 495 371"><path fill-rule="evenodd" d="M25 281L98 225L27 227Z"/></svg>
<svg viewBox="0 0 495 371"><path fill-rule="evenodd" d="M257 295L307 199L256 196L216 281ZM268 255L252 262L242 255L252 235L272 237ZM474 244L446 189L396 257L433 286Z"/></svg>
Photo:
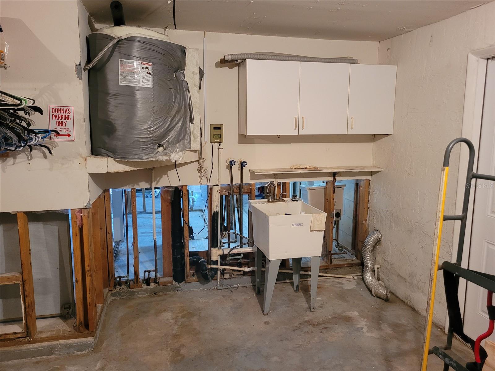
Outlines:
<svg viewBox="0 0 495 371"><path fill-rule="evenodd" d="M440 169L446 144L460 137L467 54L493 45L491 2L380 43L380 64L397 65L394 134L375 138L370 231L378 228L381 279L398 297L426 311ZM454 211L458 148L452 153L446 213ZM441 261L450 260L453 222L444 224ZM441 276L440 276L441 278ZM445 324L442 279L435 322Z"/></svg>

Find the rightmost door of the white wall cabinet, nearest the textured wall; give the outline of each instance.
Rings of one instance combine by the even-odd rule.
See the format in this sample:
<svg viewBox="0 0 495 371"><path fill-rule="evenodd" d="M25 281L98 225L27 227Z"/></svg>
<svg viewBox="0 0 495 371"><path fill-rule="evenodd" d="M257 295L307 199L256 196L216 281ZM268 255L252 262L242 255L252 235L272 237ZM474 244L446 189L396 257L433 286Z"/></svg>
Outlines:
<svg viewBox="0 0 495 371"><path fill-rule="evenodd" d="M351 64L347 134L392 134L396 66Z"/></svg>

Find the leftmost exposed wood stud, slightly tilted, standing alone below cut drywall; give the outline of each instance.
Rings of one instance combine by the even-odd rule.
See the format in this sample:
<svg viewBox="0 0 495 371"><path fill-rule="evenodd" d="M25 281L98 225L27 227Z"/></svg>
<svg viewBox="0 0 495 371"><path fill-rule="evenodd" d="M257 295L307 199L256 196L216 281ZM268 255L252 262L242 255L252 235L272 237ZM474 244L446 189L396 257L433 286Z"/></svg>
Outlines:
<svg viewBox="0 0 495 371"><path fill-rule="evenodd" d="M33 268L31 266L31 244L29 241L28 217L17 213L19 249L21 254L22 283L24 286L24 311L26 314L26 334L36 336L36 307L34 302Z"/></svg>

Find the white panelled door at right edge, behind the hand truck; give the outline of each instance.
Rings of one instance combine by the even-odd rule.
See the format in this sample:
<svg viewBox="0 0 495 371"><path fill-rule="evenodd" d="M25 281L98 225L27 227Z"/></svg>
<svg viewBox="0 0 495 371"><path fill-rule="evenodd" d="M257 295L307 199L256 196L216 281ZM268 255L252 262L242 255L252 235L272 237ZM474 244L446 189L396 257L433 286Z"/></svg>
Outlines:
<svg viewBox="0 0 495 371"><path fill-rule="evenodd" d="M495 61L488 61L477 173L495 174ZM474 190L469 269L495 275L495 185L478 179ZM468 282L464 332L472 339L488 329L487 290ZM488 338L495 341L495 333ZM483 343L482 343L483 345Z"/></svg>

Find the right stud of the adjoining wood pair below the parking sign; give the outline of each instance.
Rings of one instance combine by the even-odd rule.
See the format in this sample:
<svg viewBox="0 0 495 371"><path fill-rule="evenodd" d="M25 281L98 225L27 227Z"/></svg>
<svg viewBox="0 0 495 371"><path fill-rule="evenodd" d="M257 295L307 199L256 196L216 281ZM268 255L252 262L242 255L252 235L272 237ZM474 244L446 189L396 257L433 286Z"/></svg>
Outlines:
<svg viewBox="0 0 495 371"><path fill-rule="evenodd" d="M95 297L95 254L92 239L91 212L89 209L82 209L83 222L83 251L84 251L84 286L86 297L87 326L90 331L95 331L97 323L96 297Z"/></svg>

